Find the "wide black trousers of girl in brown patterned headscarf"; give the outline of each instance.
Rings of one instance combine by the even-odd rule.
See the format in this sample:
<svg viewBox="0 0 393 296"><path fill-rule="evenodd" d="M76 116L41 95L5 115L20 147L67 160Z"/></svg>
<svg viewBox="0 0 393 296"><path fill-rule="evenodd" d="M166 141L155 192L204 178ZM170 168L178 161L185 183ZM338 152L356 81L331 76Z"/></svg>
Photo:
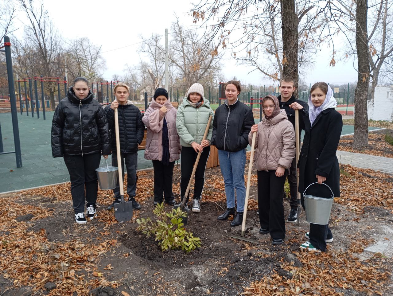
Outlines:
<svg viewBox="0 0 393 296"><path fill-rule="evenodd" d="M284 218L284 183L283 176L276 177L275 170L257 171L258 176L258 209L261 228L266 228L274 239L285 238Z"/></svg>

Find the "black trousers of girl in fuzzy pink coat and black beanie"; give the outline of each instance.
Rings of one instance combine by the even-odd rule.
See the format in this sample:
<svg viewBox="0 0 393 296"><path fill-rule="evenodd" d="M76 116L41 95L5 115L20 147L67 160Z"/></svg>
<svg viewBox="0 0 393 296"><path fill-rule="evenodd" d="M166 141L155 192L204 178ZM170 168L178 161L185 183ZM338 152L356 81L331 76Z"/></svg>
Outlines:
<svg viewBox="0 0 393 296"><path fill-rule="evenodd" d="M161 160L153 160L154 168L154 200L162 202L162 195L165 200L174 199L172 192L173 167L174 162L168 165L163 164Z"/></svg>

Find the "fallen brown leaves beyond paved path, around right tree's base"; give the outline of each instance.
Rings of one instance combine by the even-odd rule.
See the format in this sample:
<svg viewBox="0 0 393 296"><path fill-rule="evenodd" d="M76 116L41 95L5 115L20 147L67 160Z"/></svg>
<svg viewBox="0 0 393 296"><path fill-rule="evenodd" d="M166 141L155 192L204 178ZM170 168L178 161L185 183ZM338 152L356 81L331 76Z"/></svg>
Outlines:
<svg viewBox="0 0 393 296"><path fill-rule="evenodd" d="M352 147L353 136L342 137L338 150L393 158L393 146L385 141L384 134L369 133L368 137L368 147L364 150L357 150Z"/></svg>

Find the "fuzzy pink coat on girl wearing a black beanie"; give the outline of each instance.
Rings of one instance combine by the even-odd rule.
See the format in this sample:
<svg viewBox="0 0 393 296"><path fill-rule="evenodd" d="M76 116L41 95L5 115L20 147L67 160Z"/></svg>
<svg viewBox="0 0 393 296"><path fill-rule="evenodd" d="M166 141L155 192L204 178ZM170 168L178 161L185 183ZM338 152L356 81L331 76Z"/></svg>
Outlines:
<svg viewBox="0 0 393 296"><path fill-rule="evenodd" d="M150 107L147 108L142 121L147 127L145 159L162 160L162 128L164 116L160 112L163 105L158 104L154 99L151 100ZM164 103L168 111L165 113L169 136L169 161L173 162L180 158L180 138L176 131L176 109L167 100Z"/></svg>

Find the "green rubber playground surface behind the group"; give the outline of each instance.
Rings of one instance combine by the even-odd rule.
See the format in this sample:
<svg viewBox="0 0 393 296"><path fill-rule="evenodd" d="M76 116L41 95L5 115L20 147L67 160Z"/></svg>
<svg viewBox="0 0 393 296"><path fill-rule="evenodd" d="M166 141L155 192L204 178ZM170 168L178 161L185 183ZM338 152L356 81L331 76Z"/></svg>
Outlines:
<svg viewBox="0 0 393 296"><path fill-rule="evenodd" d="M34 118L29 115L18 113L22 167L16 167L15 154L0 155L0 193L70 180L63 159L52 158L50 132L53 112L46 112L46 120L42 119L42 112L40 119L37 119L36 114ZM11 113L0 113L0 124L4 152L14 151ZM342 134L351 133L353 126L344 125ZM143 154L144 151L138 152L138 169L152 167L152 162L145 160ZM104 158L101 159L101 165L104 165Z"/></svg>

